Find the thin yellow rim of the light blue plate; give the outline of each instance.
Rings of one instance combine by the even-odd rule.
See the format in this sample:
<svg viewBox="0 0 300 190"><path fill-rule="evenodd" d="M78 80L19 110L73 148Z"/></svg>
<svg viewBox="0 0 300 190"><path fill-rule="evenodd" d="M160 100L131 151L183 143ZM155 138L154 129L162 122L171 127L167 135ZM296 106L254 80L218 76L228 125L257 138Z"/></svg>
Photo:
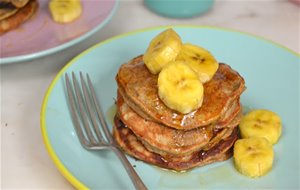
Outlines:
<svg viewBox="0 0 300 190"><path fill-rule="evenodd" d="M65 165L60 161L58 155L55 153L54 148L52 147L51 143L50 143L50 139L49 136L47 134L47 125L46 125L46 110L47 110L47 106L48 106L48 99L49 96L51 95L53 88L55 87L55 85L57 84L57 82L60 80L62 74L73 64L76 63L76 61L78 59L80 59L81 57L83 57L85 54L88 54L90 51L94 50L97 47L103 46L107 43L110 43L111 41L114 40L118 40L127 36L131 36L131 35L135 35L135 34L139 34L139 33L143 33L143 32L149 32L149 31L153 31L153 30L159 30L159 29L164 29L164 28L170 28L170 27L174 27L174 28L195 28L195 29L213 29L213 30L219 30L219 31L226 31L226 32L232 32L232 33L238 33L238 34L242 34L245 36L250 36L250 37L254 37L257 40L261 40L261 41L265 41L267 43L271 43L272 45L275 45L279 48L281 48L282 50L285 50L289 53L292 53L293 55L296 55L298 58L300 58L300 53L297 53L287 47L285 47L284 45L281 45L277 42L274 42L272 40L269 40L267 38L255 35L255 34L251 34L248 32L242 32L239 30L235 30L235 29L229 29L229 28L222 28L222 27L214 27L214 26L205 26L205 25L164 25L164 26L156 26L156 27L147 27L144 29L138 29L138 30L133 30L131 32L126 32L120 35L116 35L114 37L108 38L102 42L99 42L93 46L90 46L88 49L82 51L81 53L79 53L78 55L76 55L74 58L72 58L70 61L68 61L68 63L56 74L56 76L54 77L54 79L51 81L46 94L44 96L43 102L42 102L42 109L41 109L41 113L40 113L40 125L41 125L41 132L42 132L42 137L43 137L43 141L44 144L46 146L47 152L50 155L50 158L52 159L52 161L54 162L55 166L58 168L58 170L60 171L60 173L77 189L89 189L87 187L86 184L82 183L79 179L77 179L66 167Z"/></svg>

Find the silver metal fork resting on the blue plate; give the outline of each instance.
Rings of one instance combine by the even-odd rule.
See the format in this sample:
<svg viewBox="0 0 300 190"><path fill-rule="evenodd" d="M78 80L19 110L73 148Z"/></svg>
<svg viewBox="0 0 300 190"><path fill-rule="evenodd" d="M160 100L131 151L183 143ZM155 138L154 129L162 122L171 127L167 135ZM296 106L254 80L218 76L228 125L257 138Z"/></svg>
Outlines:
<svg viewBox="0 0 300 190"><path fill-rule="evenodd" d="M74 72L72 72L73 85L68 74L65 74L65 79L74 127L82 146L88 150L112 150L120 159L135 188L139 190L147 189L125 154L118 148L112 138L89 75L86 74L85 80L80 72L81 88ZM106 140L99 126L102 128Z"/></svg>

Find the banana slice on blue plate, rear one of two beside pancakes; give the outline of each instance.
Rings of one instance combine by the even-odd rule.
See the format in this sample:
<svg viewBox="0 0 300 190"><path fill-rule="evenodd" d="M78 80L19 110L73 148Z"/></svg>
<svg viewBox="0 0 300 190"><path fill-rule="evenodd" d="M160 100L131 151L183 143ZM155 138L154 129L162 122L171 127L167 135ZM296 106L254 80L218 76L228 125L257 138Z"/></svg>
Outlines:
<svg viewBox="0 0 300 190"><path fill-rule="evenodd" d="M276 144L281 136L280 117L269 110L253 110L246 114L239 125L242 138L264 137Z"/></svg>

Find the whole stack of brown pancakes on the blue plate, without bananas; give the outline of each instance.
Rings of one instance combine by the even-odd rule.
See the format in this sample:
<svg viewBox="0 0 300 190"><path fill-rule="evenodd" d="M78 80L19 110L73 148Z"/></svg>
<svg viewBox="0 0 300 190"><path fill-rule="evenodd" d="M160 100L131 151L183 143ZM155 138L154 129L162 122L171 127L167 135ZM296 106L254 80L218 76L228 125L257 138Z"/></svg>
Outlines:
<svg viewBox="0 0 300 190"><path fill-rule="evenodd" d="M159 99L157 78L142 56L120 67L113 129L119 146L139 160L177 171L230 158L238 138L244 79L220 64L204 84L202 106L181 114Z"/></svg>

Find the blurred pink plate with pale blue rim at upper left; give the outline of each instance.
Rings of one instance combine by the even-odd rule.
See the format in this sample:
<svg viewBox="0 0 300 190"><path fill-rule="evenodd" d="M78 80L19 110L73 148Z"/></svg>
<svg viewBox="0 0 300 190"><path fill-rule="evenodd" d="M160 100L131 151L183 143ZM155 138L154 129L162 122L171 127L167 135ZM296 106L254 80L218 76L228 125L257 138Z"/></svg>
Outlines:
<svg viewBox="0 0 300 190"><path fill-rule="evenodd" d="M0 36L0 64L28 61L68 48L100 30L116 11L117 0L82 0L82 15L68 24L52 20L49 1L39 0L37 13Z"/></svg>

